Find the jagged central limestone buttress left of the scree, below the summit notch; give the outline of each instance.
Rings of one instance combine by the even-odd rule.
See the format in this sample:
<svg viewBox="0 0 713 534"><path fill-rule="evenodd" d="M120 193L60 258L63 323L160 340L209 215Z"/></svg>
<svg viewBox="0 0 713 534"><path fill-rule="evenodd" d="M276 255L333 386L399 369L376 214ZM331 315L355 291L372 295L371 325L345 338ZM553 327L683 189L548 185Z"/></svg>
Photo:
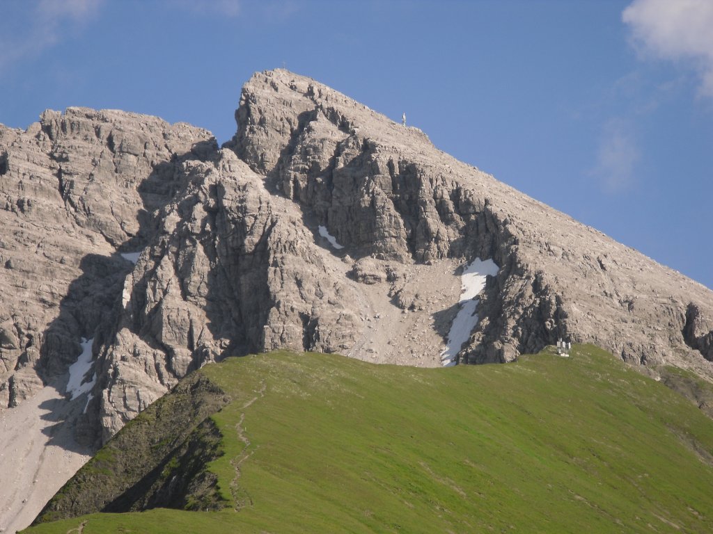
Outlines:
<svg viewBox="0 0 713 534"><path fill-rule="evenodd" d="M206 362L279 347L344 352L359 333L346 266L297 206L230 150L181 171L101 349L104 439Z"/></svg>

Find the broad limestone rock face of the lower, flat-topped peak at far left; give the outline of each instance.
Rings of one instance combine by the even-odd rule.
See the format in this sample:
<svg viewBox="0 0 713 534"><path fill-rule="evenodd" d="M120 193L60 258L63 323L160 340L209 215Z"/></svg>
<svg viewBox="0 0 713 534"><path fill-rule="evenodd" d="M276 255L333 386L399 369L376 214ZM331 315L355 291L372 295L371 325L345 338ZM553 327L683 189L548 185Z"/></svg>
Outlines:
<svg viewBox="0 0 713 534"><path fill-rule="evenodd" d="M208 132L155 117L70 108L26 132L0 125L0 406L66 372L108 320L174 163Z"/></svg>

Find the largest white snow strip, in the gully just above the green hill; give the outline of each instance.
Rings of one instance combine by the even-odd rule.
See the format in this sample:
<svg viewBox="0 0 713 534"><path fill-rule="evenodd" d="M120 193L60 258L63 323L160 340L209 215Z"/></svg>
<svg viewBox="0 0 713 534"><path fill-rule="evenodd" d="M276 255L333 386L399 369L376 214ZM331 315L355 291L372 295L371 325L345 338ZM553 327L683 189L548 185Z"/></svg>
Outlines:
<svg viewBox="0 0 713 534"><path fill-rule="evenodd" d="M443 367L451 367L456 365L456 355L460 352L463 343L471 337L473 328L478 324L478 293L486 287L486 279L488 276L496 276L498 274L498 266L493 260L474 259L470 264L466 265L461 275L461 309L458 310L458 315L453 319L451 330L448 332L448 345L446 350L441 352L441 365Z"/></svg>

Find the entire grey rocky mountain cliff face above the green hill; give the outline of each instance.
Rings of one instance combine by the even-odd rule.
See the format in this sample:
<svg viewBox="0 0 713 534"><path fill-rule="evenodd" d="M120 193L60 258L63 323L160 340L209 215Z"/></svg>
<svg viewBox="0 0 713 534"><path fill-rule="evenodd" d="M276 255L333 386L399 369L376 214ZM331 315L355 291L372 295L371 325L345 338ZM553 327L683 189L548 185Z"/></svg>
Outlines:
<svg viewBox="0 0 713 534"><path fill-rule="evenodd" d="M236 118L222 149L205 130L114 111L0 130L2 403L66 372L81 337L96 376L82 428L103 441L226 355L440 365L459 269L476 257L500 269L461 362L569 337L713 377L710 290L419 130L284 70L254 75ZM135 265L121 256L136 252Z"/></svg>

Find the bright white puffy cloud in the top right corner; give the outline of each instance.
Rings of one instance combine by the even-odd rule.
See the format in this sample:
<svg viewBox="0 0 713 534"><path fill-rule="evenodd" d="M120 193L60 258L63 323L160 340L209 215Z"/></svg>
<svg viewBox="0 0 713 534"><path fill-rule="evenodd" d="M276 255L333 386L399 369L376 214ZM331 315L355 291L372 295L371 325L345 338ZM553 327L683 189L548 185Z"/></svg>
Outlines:
<svg viewBox="0 0 713 534"><path fill-rule="evenodd" d="M713 0L635 0L622 21L643 53L692 62L713 97Z"/></svg>

